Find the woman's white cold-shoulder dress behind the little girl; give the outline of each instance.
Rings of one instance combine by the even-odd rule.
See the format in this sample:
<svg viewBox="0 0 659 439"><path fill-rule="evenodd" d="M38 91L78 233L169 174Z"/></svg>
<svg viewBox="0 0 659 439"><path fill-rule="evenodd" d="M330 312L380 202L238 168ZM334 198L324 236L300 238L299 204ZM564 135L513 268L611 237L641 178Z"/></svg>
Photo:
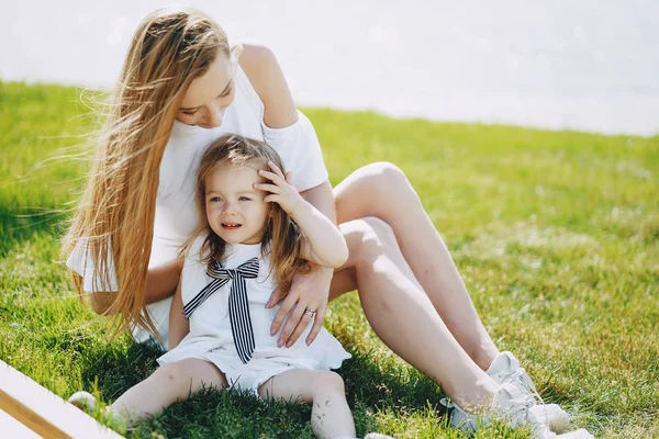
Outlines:
<svg viewBox="0 0 659 439"><path fill-rule="evenodd" d="M327 181L327 170L313 126L309 119L298 112L298 122L284 128L270 128L264 123L265 108L249 79L238 65L235 74L234 102L226 109L222 126L212 130L190 126L175 121L163 161L156 199L156 219L149 268L169 262L177 257L183 244L196 229L199 218L194 206L194 181L199 161L208 145L233 133L266 142L293 172L293 184L299 191L314 188ZM67 266L82 275L82 289L87 293L118 291L113 260L108 267L111 284L101 284L87 243L82 238L67 260ZM154 340L167 349L169 335L169 307L171 297L150 304L147 309L160 338ZM149 333L138 327L133 336L138 342L150 339Z"/></svg>

